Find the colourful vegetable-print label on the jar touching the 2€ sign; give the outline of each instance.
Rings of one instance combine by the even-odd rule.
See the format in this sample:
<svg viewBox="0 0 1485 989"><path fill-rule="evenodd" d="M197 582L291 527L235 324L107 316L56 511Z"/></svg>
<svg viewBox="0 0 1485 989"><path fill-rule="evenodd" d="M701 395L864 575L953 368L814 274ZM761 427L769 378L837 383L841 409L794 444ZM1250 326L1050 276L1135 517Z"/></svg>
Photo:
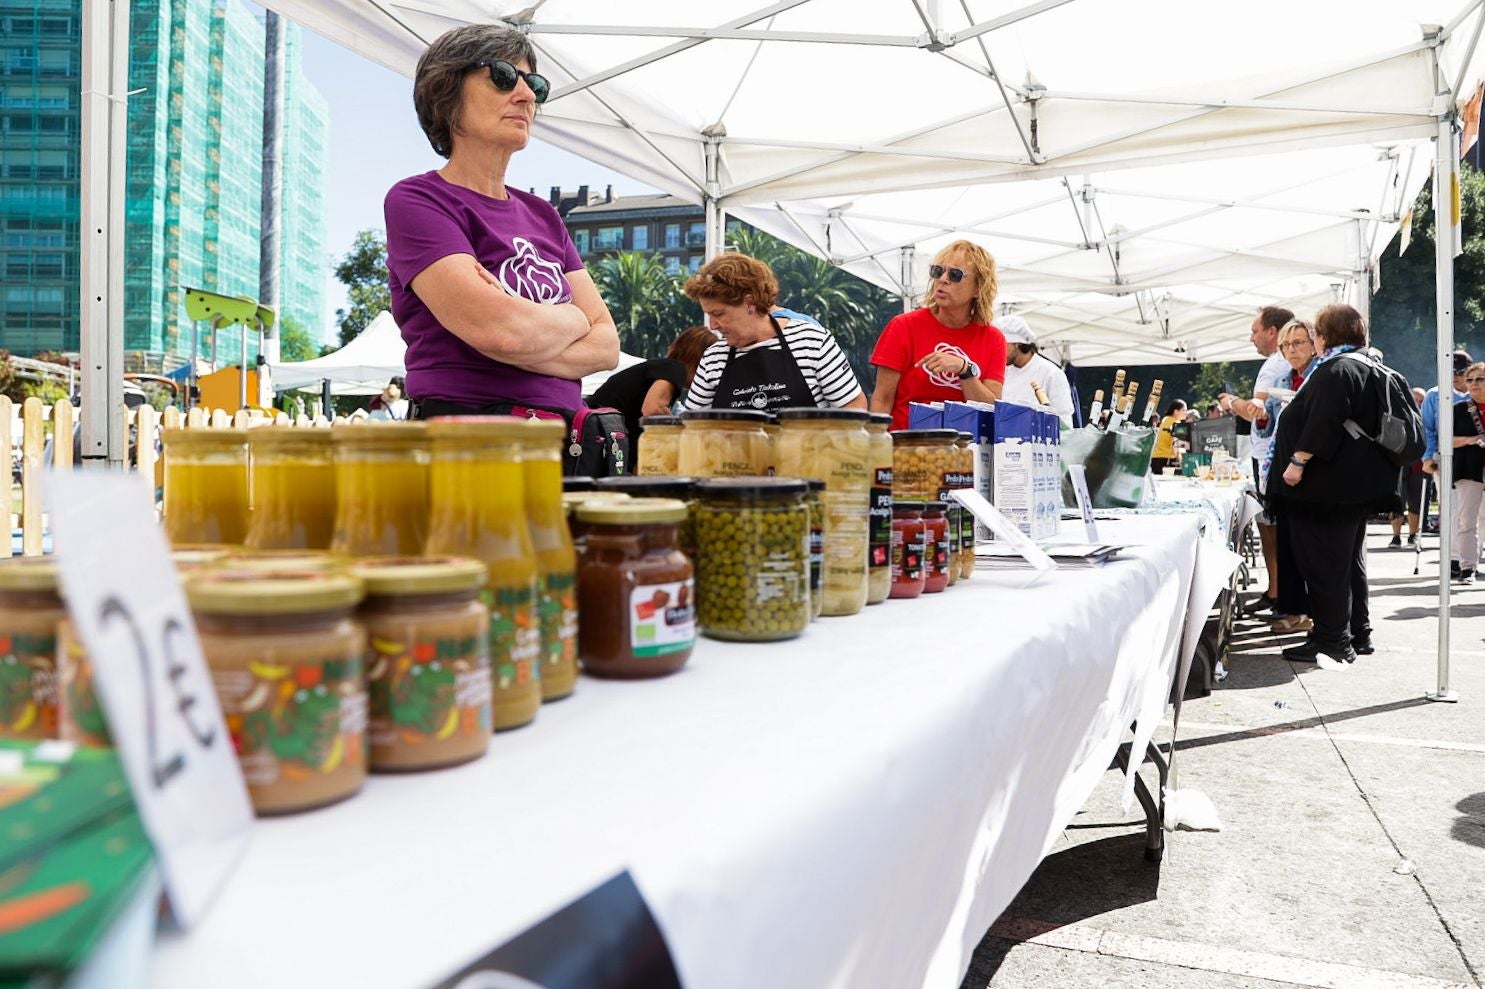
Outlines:
<svg viewBox="0 0 1485 989"><path fill-rule="evenodd" d="M214 670L232 745L248 786L310 780L365 765L361 658Z"/></svg>

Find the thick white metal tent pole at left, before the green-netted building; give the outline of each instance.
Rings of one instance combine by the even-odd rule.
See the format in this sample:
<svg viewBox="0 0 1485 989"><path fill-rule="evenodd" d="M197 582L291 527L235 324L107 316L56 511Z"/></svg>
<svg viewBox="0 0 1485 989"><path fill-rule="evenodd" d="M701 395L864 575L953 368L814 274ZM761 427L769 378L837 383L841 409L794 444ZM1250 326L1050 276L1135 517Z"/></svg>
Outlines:
<svg viewBox="0 0 1485 989"><path fill-rule="evenodd" d="M82 465L123 469L123 198L129 4L86 0L82 21Z"/></svg>

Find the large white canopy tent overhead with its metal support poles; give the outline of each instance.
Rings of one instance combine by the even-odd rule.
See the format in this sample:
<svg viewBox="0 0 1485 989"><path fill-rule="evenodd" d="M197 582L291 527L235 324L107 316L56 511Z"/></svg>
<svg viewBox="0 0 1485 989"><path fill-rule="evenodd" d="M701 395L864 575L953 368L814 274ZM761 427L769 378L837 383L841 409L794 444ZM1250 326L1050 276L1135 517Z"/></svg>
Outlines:
<svg viewBox="0 0 1485 989"><path fill-rule="evenodd" d="M1435 202L1457 203L1455 105L1479 79L1485 24L1485 0L1249 0L1209 10L1207 19L1192 16L1182 0L756 3L270 0L267 6L408 76L426 43L450 27L505 19L529 31L541 71L555 86L538 135L702 202L708 255L720 249L725 212L735 212L848 266L885 266L888 282L912 284L912 266L924 263L918 254L949 233L941 229L947 221L955 229L993 224L990 233L1020 223L1002 248L1007 260L1016 260L1008 264L1007 298L1044 304L1048 313L1060 306L1068 325L1056 336L1065 346L1081 346L1077 318L1078 327L1090 327L1083 343L1108 347L1111 339L1127 340L1139 353L1158 350L1169 339L1175 318L1148 318L1160 306L1191 313L1201 304L1221 313L1234 300L1293 301L1279 288L1307 297L1328 290L1319 284L1292 290L1283 282L1296 276L1368 284L1369 260L1394 223L1383 189L1372 196L1375 206L1359 205L1331 199L1329 184L1323 178L1314 184L1310 174L1311 190L1285 209L1225 206L1234 198L1230 183L1244 168L1258 181L1243 187L1243 198L1279 202L1286 195L1289 177L1270 171L1283 168L1273 163L1280 159L1264 165L1265 156L1328 148L1326 157L1341 162L1339 148L1390 143L1402 175L1396 202L1406 202L1418 177L1418 156L1406 156L1418 147L1414 143L1432 138ZM126 3L86 0L82 346L85 402L98 405L122 401L116 371L123 364L128 36ZM1151 186L1138 174L1219 160L1237 160L1236 177L1175 186L1149 172L1157 183ZM1028 186L1029 180L1038 181ZM998 193L986 186L1020 187L999 193L1010 198L1005 209L1020 211L1038 198L1048 202L1001 217ZM1044 239L1051 244L1041 244L1042 255L1029 254L1038 244L1034 238L1042 236L1041 211L1054 208L1056 186L1068 199L1063 221L1048 224ZM1091 202L1086 189L1093 190ZM956 195L979 199L959 209L952 202ZM888 199L878 196L901 198L885 211ZM1148 227L1161 221L1161 208L1216 212L1172 224L1187 230L1184 239L1172 233L1166 242L1109 218L1129 211L1133 223ZM1319 217L1313 208L1329 223L1317 218L1305 227L1295 220ZM1354 215L1362 208L1377 214ZM1249 209L1264 218L1247 224L1249 235L1222 230ZM832 212L861 229L854 244L842 241L841 251L835 229L843 232L845 224ZM919 212L934 217L937 233L921 229ZM1077 238L1068 233L1072 217L1081 220ZM1090 218L1099 217L1105 223L1094 232ZM904 218L927 236L904 236ZM1341 233L1347 220L1354 221L1354 241ZM830 233L823 236L827 224ZM1123 236L1115 229L1121 226L1139 236ZM1322 242L1336 249L1311 255ZM1142 254L1132 258L1138 281L1130 284L1114 270L1124 264L1126 244ZM1449 380L1454 337L1455 244L1455 227L1442 224L1436 339L1442 382ZM1365 255L1360 245L1369 247ZM895 276L884 247L897 252ZM1301 258L1302 264L1287 263ZM1068 288L1068 279L1081 287ZM1090 294L1114 301L1094 304ZM1357 293L1356 301L1365 298ZM1077 309L1069 300L1078 300ZM1139 318L1130 319L1130 312ZM1212 334L1198 334L1200 325L1176 319L1172 352L1187 346L1179 334L1188 334L1203 359L1221 356ZM97 411L83 419L83 459L120 463L125 440L113 417ZM1449 431L1449 419L1440 417L1445 474L1452 459ZM1448 514L1449 490L1440 494ZM1448 555L1448 535L1443 548ZM1440 610L1448 613L1446 575ZM1439 640L1435 696L1452 699L1446 621Z"/></svg>

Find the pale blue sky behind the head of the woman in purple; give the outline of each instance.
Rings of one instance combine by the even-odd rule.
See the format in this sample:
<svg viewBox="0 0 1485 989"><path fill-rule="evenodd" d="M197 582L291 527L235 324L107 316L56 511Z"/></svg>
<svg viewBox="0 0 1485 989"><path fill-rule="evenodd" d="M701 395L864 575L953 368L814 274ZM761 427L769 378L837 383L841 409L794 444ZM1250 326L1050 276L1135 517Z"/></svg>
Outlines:
<svg viewBox="0 0 1485 989"><path fill-rule="evenodd" d="M434 154L417 126L410 79L313 31L304 30L303 37L304 74L330 104L325 223L330 260L325 264L325 325L319 336L334 340L336 309L346 304L346 291L331 269L350 249L356 232L382 229L382 199L388 189L408 175L441 166L444 159ZM541 126L538 119L538 135ZM505 178L506 184L535 189L544 198L552 186L575 190L587 184L601 192L612 184L615 195L655 192L535 138L511 160Z"/></svg>

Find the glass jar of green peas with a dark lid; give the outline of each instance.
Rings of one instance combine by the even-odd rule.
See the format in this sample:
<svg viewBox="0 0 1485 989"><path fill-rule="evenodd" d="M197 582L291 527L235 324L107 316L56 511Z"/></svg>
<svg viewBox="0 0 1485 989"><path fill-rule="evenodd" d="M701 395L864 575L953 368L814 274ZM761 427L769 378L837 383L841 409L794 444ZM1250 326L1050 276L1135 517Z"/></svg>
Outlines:
<svg viewBox="0 0 1485 989"><path fill-rule="evenodd" d="M696 621L713 639L792 639L809 624L808 486L794 478L696 483Z"/></svg>

